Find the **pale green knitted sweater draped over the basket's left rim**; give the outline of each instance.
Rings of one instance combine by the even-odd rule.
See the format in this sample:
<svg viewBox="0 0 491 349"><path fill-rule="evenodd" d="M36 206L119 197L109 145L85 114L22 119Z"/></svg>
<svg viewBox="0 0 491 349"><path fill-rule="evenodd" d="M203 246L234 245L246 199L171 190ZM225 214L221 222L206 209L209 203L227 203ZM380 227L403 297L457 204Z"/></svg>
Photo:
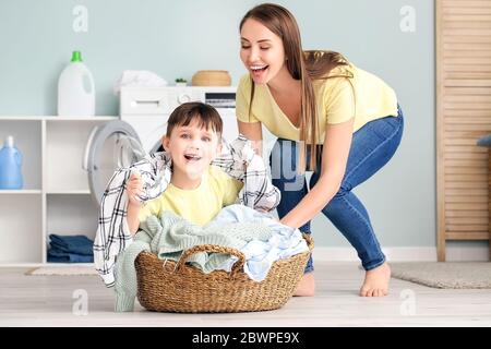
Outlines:
<svg viewBox="0 0 491 349"><path fill-rule="evenodd" d="M253 239L267 241L271 234L271 228L261 222L233 222L203 228L171 212L165 212L160 219L149 216L141 225L133 243L118 255L115 268L115 310L133 311L137 291L134 261L142 251L156 253L161 260L178 261L184 250L199 244L218 244L240 250ZM188 262L207 274L229 257L229 254L201 252L190 256Z"/></svg>

